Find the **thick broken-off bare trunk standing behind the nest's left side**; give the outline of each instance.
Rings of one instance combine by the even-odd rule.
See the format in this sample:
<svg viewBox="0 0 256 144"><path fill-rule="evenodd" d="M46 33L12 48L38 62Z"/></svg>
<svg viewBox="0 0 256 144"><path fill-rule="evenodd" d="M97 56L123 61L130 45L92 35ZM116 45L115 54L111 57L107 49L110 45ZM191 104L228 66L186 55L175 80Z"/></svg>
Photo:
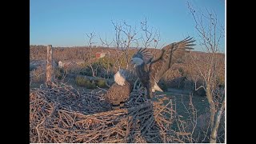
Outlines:
<svg viewBox="0 0 256 144"><path fill-rule="evenodd" d="M46 61L46 86L52 86L53 74L53 50L52 46L47 46L47 61Z"/></svg>

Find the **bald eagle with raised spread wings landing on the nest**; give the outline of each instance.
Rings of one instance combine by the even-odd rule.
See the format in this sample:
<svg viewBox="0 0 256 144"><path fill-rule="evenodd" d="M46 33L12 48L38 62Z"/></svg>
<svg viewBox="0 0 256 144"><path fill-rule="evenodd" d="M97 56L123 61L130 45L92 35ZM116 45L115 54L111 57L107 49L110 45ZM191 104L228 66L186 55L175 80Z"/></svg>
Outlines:
<svg viewBox="0 0 256 144"><path fill-rule="evenodd" d="M191 46L195 40L187 37L180 42L174 42L162 48L161 53L153 59L152 54L144 48L138 50L131 58L131 64L134 65L135 72L146 88L146 97L152 98L152 92L162 91L158 82L162 75L170 69L170 66L181 58L186 50L193 50Z"/></svg>

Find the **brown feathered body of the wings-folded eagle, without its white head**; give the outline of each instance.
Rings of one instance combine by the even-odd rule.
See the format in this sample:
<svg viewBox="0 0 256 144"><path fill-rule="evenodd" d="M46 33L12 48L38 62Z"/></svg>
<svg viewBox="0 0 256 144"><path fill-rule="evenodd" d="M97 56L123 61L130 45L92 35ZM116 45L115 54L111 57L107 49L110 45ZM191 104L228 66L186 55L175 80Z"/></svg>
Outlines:
<svg viewBox="0 0 256 144"><path fill-rule="evenodd" d="M120 86L115 82L105 94L106 101L114 106L118 106L120 103L126 102L130 96L131 90L132 85L130 82L126 81L123 86Z"/></svg>

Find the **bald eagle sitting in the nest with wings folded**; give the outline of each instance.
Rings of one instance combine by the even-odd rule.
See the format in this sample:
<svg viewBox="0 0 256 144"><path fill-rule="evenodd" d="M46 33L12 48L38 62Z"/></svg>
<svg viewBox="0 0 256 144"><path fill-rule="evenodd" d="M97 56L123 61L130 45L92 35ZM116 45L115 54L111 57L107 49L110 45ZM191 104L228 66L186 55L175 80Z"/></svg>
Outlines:
<svg viewBox="0 0 256 144"><path fill-rule="evenodd" d="M127 80L126 70L118 70L114 74L114 84L105 94L106 101L112 104L113 109L118 109L129 98L131 90L132 84Z"/></svg>

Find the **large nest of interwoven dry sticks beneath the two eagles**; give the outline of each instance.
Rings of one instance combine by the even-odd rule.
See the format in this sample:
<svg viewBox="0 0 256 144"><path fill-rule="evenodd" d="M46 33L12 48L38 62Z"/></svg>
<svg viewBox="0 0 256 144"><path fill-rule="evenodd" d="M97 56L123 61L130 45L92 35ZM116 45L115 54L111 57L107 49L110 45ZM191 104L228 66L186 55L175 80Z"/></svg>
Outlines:
<svg viewBox="0 0 256 144"><path fill-rule="evenodd" d="M30 90L30 142L181 142L171 125L171 99L146 100L133 91L119 110L103 91L78 91L56 84Z"/></svg>

